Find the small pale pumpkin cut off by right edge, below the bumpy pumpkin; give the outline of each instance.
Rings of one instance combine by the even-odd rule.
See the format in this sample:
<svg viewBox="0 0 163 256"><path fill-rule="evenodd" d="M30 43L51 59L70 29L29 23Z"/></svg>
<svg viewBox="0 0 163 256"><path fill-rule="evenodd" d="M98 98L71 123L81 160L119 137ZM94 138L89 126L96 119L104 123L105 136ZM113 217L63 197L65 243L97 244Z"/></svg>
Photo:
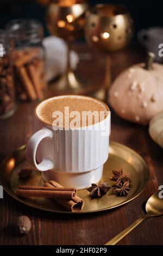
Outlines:
<svg viewBox="0 0 163 256"><path fill-rule="evenodd" d="M163 148L163 113L155 115L149 122L149 135Z"/></svg>

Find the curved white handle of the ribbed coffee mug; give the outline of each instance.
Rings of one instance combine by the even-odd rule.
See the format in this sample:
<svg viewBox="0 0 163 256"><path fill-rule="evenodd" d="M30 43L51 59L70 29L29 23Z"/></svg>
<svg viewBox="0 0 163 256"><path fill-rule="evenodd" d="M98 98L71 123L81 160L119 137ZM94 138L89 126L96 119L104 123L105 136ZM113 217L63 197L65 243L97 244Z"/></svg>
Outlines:
<svg viewBox="0 0 163 256"><path fill-rule="evenodd" d="M53 132L46 127L34 133L29 139L26 148L26 159L30 166L37 170L45 171L54 168L54 163L51 160L43 159L39 164L36 163L36 151L39 143L44 138L53 138Z"/></svg>

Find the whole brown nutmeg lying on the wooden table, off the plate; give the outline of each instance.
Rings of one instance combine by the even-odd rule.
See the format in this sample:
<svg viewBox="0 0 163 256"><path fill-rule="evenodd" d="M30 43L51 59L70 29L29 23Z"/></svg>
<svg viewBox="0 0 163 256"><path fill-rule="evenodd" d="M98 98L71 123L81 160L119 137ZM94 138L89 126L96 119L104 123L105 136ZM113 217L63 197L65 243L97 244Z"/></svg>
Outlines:
<svg viewBox="0 0 163 256"><path fill-rule="evenodd" d="M22 215L18 217L16 224L17 224L18 233L20 235L26 235L29 233L31 229L31 221L27 216Z"/></svg>

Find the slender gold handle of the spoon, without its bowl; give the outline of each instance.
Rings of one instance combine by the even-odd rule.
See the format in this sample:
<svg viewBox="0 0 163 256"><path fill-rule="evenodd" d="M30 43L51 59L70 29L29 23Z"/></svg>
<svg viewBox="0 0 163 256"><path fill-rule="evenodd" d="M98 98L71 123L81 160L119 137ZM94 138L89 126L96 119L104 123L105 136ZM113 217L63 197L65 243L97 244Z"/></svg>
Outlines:
<svg viewBox="0 0 163 256"><path fill-rule="evenodd" d="M139 225L143 220L146 220L146 218L148 217L149 217L148 215L145 215L139 218L138 220L133 222L129 227L124 229L121 233L119 233L114 238L112 238L109 242L106 242L105 245L116 245L117 242L119 242L124 236L126 236L131 230L136 228L137 225Z"/></svg>

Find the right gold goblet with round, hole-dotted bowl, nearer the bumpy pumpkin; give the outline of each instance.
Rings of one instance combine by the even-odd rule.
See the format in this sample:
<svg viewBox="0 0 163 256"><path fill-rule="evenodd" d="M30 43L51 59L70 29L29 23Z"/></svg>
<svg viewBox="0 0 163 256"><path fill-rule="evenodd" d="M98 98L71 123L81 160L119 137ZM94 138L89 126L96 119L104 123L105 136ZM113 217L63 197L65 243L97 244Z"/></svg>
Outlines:
<svg viewBox="0 0 163 256"><path fill-rule="evenodd" d="M106 53L104 87L93 96L107 100L111 84L110 52L126 47L133 35L133 20L122 5L97 4L86 13L85 36L93 48Z"/></svg>

